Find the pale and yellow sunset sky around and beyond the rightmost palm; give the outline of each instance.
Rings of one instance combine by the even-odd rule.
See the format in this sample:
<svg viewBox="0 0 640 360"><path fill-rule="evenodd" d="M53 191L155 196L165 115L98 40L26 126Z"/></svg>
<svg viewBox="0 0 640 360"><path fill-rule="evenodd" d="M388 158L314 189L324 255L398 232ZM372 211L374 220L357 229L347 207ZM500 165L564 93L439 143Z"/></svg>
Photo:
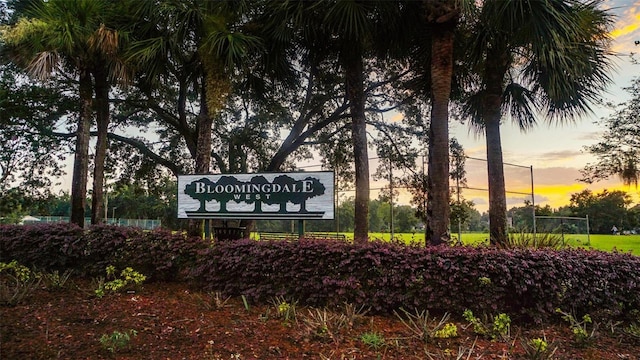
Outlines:
<svg viewBox="0 0 640 360"><path fill-rule="evenodd" d="M607 5L616 14L615 29L611 33L613 50L619 54L615 60L616 70L612 74L614 84L604 94L605 100L613 103L624 102L631 96L622 88L631 84L634 77L640 76L640 65L633 65L630 52L640 52L640 46L634 44L640 40L640 1L611 0ZM640 58L639 58L640 59ZM596 143L603 128L594 121L606 117L609 113L594 107L595 114L579 120L573 125L547 125L540 119L539 125L527 134L510 123L502 126L502 150L506 163L520 166L533 166L535 202L538 205L550 205L553 208L569 204L571 194L584 189L600 192L603 189L620 189L634 196L637 203L640 192L635 187L623 186L620 179L611 178L594 184L577 181L579 170L595 159L584 152L584 146ZM486 159L484 137L476 138L469 133L466 125L452 125L451 135L455 136L465 148L468 156ZM487 188L486 163L467 160L468 186ZM531 193L530 170L505 165L507 191ZM463 190L463 196L476 203L480 211L487 209L486 191ZM530 196L507 193L507 207L521 206Z"/></svg>

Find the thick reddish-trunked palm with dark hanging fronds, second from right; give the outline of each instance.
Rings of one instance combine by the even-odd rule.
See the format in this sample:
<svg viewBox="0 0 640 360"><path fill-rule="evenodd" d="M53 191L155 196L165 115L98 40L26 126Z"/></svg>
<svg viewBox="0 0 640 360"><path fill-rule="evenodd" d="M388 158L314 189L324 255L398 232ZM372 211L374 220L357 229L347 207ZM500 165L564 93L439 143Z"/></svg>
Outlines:
<svg viewBox="0 0 640 360"><path fill-rule="evenodd" d="M462 78L454 59L461 56L457 40L465 25L460 19L471 14L471 0L423 0L405 2L402 22L406 24L410 67L415 77L407 84L415 100L430 105L428 128L428 177L425 193L425 240L439 245L449 238L449 105L459 100ZM471 16L472 17L472 16Z"/></svg>

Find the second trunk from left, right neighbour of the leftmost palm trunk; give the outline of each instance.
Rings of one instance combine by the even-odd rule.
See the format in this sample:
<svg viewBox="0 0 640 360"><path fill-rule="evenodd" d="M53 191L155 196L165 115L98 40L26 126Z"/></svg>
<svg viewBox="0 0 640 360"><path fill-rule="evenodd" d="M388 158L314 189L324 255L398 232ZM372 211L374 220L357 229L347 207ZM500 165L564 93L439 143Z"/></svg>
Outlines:
<svg viewBox="0 0 640 360"><path fill-rule="evenodd" d="M104 162L107 157L107 132L109 128L109 83L107 73L99 69L93 73L95 79L95 107L98 135L93 168L93 194L91 197L91 224L104 222Z"/></svg>

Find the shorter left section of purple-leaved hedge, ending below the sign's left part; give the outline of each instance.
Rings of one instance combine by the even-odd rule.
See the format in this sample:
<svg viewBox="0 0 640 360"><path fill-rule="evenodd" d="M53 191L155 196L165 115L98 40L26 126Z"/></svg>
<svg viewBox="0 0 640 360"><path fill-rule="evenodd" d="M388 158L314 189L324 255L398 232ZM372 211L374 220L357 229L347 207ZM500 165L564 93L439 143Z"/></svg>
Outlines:
<svg viewBox="0 0 640 360"><path fill-rule="evenodd" d="M83 276L104 275L113 265L133 267L150 280L179 280L206 247L200 238L167 230L102 225L85 231L67 223L0 226L0 262L17 260L45 271L71 269Z"/></svg>

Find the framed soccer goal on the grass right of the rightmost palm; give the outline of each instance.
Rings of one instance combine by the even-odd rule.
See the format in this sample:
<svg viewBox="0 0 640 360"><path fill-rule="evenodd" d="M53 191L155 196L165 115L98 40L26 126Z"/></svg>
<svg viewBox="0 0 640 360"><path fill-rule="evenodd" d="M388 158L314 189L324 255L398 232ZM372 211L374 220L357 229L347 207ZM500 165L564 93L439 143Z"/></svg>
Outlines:
<svg viewBox="0 0 640 360"><path fill-rule="evenodd" d="M535 216L536 232L560 234L562 243L566 244L567 240L574 240L577 243L583 243L587 246L591 245L589 232L589 216Z"/></svg>

